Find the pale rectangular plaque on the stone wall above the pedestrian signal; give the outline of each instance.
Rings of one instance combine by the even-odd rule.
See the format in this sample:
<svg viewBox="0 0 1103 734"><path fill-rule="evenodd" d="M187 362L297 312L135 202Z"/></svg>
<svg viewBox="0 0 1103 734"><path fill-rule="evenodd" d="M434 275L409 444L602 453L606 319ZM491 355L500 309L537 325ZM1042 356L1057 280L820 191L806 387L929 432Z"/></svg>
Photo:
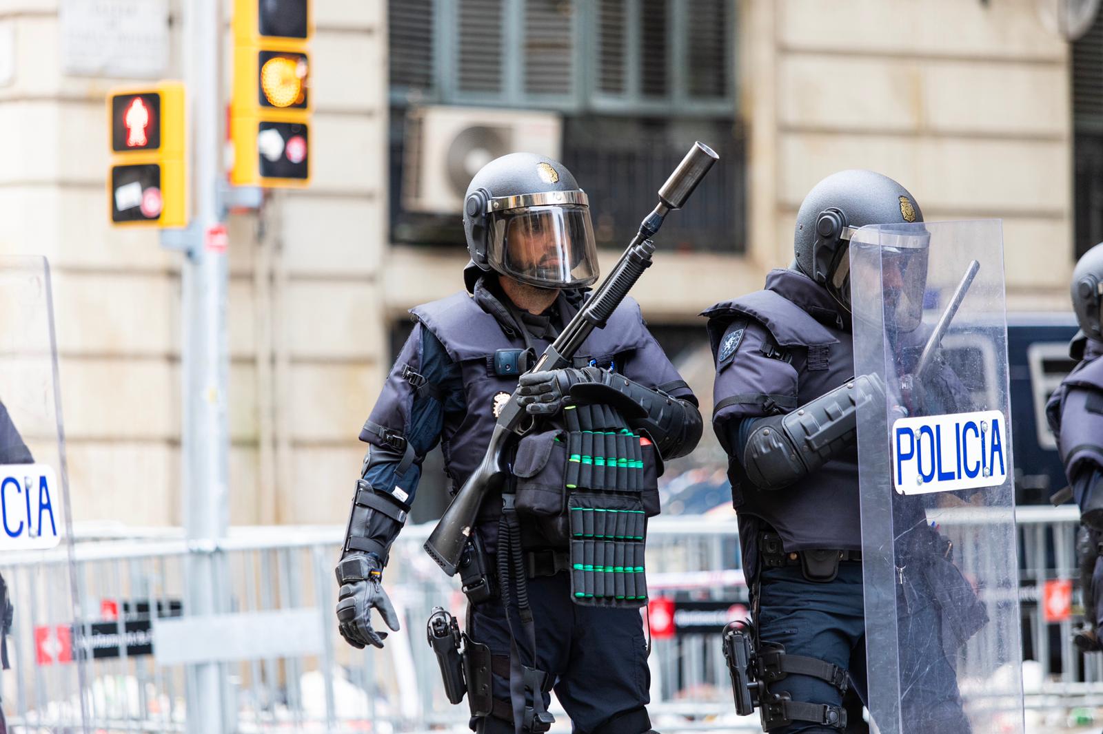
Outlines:
<svg viewBox="0 0 1103 734"><path fill-rule="evenodd" d="M157 79L168 69L168 0L62 0L61 33L66 74Z"/></svg>

